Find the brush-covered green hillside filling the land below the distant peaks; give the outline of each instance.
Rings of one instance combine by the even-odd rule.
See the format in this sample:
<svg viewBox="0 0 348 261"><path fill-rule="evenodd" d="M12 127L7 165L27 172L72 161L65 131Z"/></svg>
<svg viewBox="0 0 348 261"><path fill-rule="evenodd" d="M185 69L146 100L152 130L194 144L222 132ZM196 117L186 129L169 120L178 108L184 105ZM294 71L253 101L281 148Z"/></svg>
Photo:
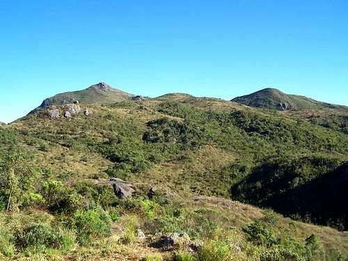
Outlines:
<svg viewBox="0 0 348 261"><path fill-rule="evenodd" d="M348 135L336 125L96 93L0 126L4 260L348 258Z"/></svg>

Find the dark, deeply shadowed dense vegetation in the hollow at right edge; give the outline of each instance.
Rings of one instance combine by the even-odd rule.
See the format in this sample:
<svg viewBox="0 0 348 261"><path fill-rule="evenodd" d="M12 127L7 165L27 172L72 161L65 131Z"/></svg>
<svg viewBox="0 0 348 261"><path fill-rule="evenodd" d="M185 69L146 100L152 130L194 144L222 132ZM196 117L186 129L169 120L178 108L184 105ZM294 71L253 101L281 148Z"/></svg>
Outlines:
<svg viewBox="0 0 348 261"><path fill-rule="evenodd" d="M232 198L315 223L346 230L347 163L312 156L272 159L231 189ZM323 193L324 192L324 193Z"/></svg>

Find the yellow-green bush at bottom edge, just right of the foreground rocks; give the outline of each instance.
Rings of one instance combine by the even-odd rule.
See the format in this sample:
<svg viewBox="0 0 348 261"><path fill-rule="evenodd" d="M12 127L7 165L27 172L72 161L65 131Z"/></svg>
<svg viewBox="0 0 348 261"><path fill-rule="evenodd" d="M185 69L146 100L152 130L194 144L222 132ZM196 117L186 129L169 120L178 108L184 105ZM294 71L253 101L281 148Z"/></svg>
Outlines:
<svg viewBox="0 0 348 261"><path fill-rule="evenodd" d="M232 255L232 249L226 242L212 240L207 242L198 252L200 261L225 261Z"/></svg>

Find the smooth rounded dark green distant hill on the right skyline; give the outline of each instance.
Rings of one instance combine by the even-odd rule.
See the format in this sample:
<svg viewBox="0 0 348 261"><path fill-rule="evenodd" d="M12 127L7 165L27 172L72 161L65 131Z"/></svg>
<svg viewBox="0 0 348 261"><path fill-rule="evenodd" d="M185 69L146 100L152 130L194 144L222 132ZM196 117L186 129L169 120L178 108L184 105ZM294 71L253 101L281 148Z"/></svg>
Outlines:
<svg viewBox="0 0 348 261"><path fill-rule="evenodd" d="M235 97L232 102L239 102L247 106L257 108L274 109L278 111L301 110L301 109L338 109L345 106L318 102L300 95L290 95L274 88L264 88L255 93Z"/></svg>

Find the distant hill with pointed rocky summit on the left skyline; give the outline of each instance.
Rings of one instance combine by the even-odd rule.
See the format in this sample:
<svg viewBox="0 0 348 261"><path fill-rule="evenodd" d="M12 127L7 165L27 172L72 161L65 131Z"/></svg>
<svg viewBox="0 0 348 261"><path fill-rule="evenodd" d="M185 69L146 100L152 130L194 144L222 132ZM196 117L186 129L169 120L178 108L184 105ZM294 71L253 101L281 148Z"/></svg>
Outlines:
<svg viewBox="0 0 348 261"><path fill-rule="evenodd" d="M82 104L111 104L122 100L132 100L133 97L135 97L135 95L118 90L101 82L99 84L94 84L85 90L60 93L53 97L49 97L36 109L42 109L52 105L69 104L77 100Z"/></svg>

